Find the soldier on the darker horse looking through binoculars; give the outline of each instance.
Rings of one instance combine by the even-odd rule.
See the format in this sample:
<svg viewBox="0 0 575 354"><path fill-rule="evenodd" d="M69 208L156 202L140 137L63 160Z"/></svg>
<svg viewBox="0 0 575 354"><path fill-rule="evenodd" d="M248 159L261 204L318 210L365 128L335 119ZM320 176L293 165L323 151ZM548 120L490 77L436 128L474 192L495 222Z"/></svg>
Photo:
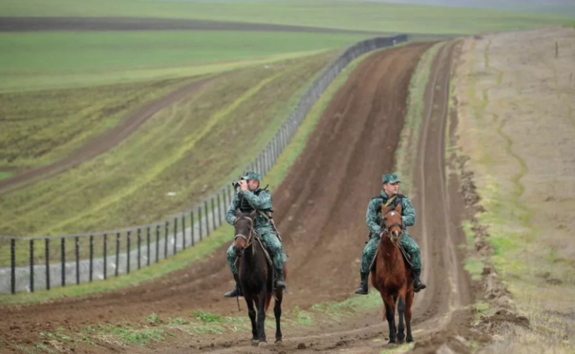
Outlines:
<svg viewBox="0 0 575 354"><path fill-rule="evenodd" d="M228 224L235 224L235 215L239 210L242 213L250 213L257 211L254 219L253 231L259 236L262 236L264 243L267 246L272 261L276 268L276 281L274 287L276 290L283 290L286 287L284 282L284 247L281 246L277 229L272 219L272 195L270 195L267 188L259 188L259 181L261 180L259 173L248 171L245 176L240 178L237 186L240 187L238 193L234 195L233 200L230 202L228 212L225 215L225 220ZM235 185L236 186L236 185ZM235 288L226 292L224 297L237 297L242 296L239 286L238 267L235 264L236 255L235 247L232 243L228 248L227 257L230 270L232 270L233 278L235 280Z"/></svg>

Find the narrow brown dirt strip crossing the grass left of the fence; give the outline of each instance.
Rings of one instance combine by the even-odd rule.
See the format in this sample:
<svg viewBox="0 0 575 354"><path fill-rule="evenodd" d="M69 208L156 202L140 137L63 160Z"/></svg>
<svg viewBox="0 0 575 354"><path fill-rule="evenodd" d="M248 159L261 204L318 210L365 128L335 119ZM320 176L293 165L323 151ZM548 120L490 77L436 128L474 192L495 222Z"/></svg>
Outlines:
<svg viewBox="0 0 575 354"><path fill-rule="evenodd" d="M49 176L54 176L57 173L62 173L68 169L73 169L84 161L93 159L99 154L104 154L104 152L107 152L109 149L122 142L123 139L130 136L130 134L135 132L140 125L143 125L146 120L162 110L162 108L166 108L168 105L172 105L180 99L191 95L194 91L201 89L203 85L211 80L213 80L213 78L194 81L191 84L186 84L179 89L168 93L166 96L146 103L142 107L130 113L130 115L128 115L128 117L116 127L113 127L103 135L94 137L94 139L86 142L86 144L72 152L72 154L65 157L65 159L36 169L30 169L11 178L1 180L0 195L23 188L28 185L28 183L38 181L38 178L47 178Z"/></svg>

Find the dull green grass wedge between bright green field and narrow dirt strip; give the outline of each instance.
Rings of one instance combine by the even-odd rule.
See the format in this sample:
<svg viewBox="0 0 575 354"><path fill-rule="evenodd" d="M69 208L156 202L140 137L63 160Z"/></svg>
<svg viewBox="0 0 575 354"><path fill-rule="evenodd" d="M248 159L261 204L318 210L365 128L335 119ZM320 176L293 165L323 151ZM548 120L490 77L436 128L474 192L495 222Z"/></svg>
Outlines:
<svg viewBox="0 0 575 354"><path fill-rule="evenodd" d="M16 171L62 159L131 110L189 81L0 93L0 168Z"/></svg>

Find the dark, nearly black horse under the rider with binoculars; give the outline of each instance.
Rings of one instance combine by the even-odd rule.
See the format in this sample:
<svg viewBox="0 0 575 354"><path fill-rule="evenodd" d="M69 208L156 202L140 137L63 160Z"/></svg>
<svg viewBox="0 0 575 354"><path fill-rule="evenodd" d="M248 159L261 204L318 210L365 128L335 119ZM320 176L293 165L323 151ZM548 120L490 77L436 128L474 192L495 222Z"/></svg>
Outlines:
<svg viewBox="0 0 575 354"><path fill-rule="evenodd" d="M263 239L254 232L254 218L256 212L244 214L238 210L235 217L235 252L239 261L240 288L247 304L247 314L252 321L252 343L259 342L265 345L266 333L264 322L269 302L275 295L274 315L276 317L276 343L281 342L281 300L284 297L283 290L274 292L274 267L267 263L264 255ZM286 279L286 267L284 265L284 279ZM257 306L257 312L254 308ZM257 321L256 321L257 315Z"/></svg>

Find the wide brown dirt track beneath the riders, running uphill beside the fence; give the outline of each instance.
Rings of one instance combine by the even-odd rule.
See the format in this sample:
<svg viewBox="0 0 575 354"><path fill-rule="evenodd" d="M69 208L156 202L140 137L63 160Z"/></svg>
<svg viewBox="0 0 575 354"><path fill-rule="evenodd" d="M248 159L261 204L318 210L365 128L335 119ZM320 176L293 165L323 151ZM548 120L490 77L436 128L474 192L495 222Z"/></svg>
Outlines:
<svg viewBox="0 0 575 354"><path fill-rule="evenodd" d="M381 174L393 168L411 74L430 45L415 43L384 50L359 64L328 105L306 149L274 193L278 226L290 256L289 295L284 298L284 309L296 305L305 309L353 294L366 236L365 207L369 198L379 193ZM432 67L434 80L425 96L428 114L415 169L415 195L411 196L418 222L410 233L422 247L423 275L428 282L428 289L415 297L414 336L422 348L442 345L452 329L468 320L465 312L457 311L469 302L469 282L456 251L463 236L455 227L462 208L454 205L459 202L457 189L453 189L457 186L447 183L443 169L451 55L452 47L444 47ZM203 263L123 291L0 308L0 333L9 333L9 340L21 342L34 341L40 329L48 331L60 325L79 329L86 324L122 319L139 321L151 312L163 317L202 309L235 315L235 299L222 296L232 286L225 264L227 246L220 247ZM376 311L338 325L319 324L305 331L284 333L281 351L374 353L382 346L374 339L383 339L386 331L381 311ZM210 343L200 351L254 351L242 335L206 337L206 341ZM199 350L203 344L194 343L194 348ZM154 353L190 353L190 347L190 343L174 341L169 348L158 347ZM94 350L106 353L105 349ZM270 350L278 349L272 346Z"/></svg>

